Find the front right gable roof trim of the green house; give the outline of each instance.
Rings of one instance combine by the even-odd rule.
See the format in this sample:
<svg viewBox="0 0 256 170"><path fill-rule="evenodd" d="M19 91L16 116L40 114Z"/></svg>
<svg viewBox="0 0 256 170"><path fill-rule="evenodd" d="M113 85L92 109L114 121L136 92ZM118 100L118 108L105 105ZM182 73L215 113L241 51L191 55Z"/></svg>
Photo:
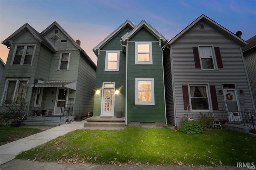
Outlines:
<svg viewBox="0 0 256 170"><path fill-rule="evenodd" d="M132 29L132 31L124 35L122 37L122 43L125 44L125 42L133 35L135 35L142 27L146 28L152 35L159 39L159 41L161 41L162 46L167 43L167 39L145 20L142 20L134 29Z"/></svg>

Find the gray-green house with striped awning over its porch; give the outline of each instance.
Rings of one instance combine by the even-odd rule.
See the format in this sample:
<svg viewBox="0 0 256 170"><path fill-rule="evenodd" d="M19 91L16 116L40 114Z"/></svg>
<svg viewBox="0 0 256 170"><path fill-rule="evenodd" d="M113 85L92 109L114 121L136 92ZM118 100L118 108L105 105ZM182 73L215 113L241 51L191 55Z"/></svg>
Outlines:
<svg viewBox="0 0 256 170"><path fill-rule="evenodd" d="M25 100L28 116L92 111L96 64L56 21L41 33L26 23L2 44L10 52L0 84L0 109Z"/></svg>

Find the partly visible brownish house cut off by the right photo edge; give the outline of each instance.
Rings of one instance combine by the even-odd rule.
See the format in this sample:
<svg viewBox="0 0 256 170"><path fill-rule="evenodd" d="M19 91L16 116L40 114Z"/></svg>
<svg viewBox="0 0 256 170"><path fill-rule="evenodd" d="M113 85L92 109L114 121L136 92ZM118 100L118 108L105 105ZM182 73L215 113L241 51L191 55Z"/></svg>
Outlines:
<svg viewBox="0 0 256 170"><path fill-rule="evenodd" d="M256 105L256 35L248 39L247 43L248 44L244 46L242 50L252 89L254 105Z"/></svg>

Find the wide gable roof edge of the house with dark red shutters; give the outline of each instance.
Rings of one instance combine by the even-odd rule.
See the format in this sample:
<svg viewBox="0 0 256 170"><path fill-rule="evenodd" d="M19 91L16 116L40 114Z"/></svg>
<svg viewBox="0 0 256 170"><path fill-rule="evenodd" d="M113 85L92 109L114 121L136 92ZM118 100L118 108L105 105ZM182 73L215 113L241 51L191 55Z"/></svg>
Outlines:
<svg viewBox="0 0 256 170"><path fill-rule="evenodd" d="M201 20L208 23L209 25L214 27L216 30L220 31L221 33L223 33L224 35L226 35L227 37L229 37L230 39L232 39L239 45L244 46L247 44L246 41L244 41L242 38L236 36L234 33L229 31L228 29L222 27L220 24L218 24L214 20L208 18L204 14L202 14L200 17L198 17L196 20L194 20L192 23L190 23L190 25L188 25L185 29L183 29L180 33L178 33L178 35L176 35L173 39L171 39L168 42L168 44L172 44L174 41L176 41L176 39L178 39L180 36L182 36L186 31L188 31L188 29L190 29L192 26L194 26L196 23L198 23Z"/></svg>

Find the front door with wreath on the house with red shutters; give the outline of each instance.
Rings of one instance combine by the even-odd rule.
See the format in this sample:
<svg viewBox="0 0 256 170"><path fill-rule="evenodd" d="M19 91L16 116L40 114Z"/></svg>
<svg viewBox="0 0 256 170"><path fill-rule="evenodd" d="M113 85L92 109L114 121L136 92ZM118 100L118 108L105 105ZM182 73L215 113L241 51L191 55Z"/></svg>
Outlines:
<svg viewBox="0 0 256 170"><path fill-rule="evenodd" d="M224 89L224 99L228 111L228 120L232 122L242 121L236 89Z"/></svg>

